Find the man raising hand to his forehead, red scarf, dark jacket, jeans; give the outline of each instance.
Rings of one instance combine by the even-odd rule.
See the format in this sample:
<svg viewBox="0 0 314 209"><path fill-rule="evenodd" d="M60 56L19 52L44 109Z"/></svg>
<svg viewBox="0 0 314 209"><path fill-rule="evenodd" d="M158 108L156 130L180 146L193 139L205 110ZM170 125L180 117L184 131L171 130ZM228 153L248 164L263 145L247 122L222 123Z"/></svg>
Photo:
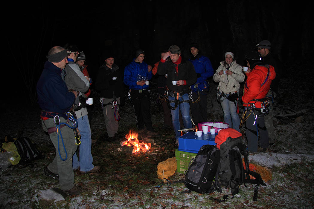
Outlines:
<svg viewBox="0 0 314 209"><path fill-rule="evenodd" d="M166 62L170 56L171 61ZM176 134L176 143L180 137L179 109L181 110L185 128L192 128L189 105L189 86L197 81L196 73L191 62L181 56L178 46L172 45L164 54L158 65L157 73L167 76L168 98L171 105L172 125Z"/></svg>

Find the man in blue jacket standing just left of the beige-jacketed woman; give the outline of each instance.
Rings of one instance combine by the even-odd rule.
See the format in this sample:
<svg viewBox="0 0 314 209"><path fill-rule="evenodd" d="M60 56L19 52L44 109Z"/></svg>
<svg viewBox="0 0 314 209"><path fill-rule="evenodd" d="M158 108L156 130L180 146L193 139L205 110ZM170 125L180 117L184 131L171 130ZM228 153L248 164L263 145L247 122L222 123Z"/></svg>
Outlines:
<svg viewBox="0 0 314 209"><path fill-rule="evenodd" d="M197 43L190 44L191 58L197 81L191 86L193 102L190 103L193 122L197 123L207 122L207 92L208 82L207 78L214 75L214 69L210 60L202 56L199 51Z"/></svg>

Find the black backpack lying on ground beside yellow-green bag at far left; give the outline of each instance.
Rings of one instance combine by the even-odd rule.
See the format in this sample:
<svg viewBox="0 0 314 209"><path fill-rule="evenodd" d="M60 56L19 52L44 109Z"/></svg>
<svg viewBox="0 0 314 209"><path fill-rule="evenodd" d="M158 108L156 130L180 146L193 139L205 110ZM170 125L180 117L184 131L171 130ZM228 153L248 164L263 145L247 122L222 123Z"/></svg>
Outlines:
<svg viewBox="0 0 314 209"><path fill-rule="evenodd" d="M21 157L20 164L27 165L35 159L44 158L41 152L27 137L17 138L14 142Z"/></svg>

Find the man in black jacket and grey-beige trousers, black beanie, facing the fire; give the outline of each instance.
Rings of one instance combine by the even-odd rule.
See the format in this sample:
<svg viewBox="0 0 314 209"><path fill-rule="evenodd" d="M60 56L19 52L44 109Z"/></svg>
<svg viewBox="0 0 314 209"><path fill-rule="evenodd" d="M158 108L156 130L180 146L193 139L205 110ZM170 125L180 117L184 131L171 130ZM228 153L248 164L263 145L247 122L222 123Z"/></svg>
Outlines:
<svg viewBox="0 0 314 209"><path fill-rule="evenodd" d="M120 96L123 94L123 77L120 68L114 64L114 56L107 53L105 59L105 63L99 69L95 86L97 91L100 91L108 137L114 139L119 128L118 110Z"/></svg>

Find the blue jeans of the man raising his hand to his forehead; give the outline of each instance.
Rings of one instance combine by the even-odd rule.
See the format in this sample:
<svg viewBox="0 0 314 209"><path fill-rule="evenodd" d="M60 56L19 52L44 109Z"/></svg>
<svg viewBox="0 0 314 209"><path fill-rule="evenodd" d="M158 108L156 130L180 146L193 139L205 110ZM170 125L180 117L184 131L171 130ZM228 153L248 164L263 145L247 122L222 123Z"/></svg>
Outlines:
<svg viewBox="0 0 314 209"><path fill-rule="evenodd" d="M169 97L169 101L174 101L175 97ZM189 100L188 94L183 94L181 97L179 97L180 101L183 100ZM174 102L170 103L171 107L175 106ZM171 110L171 116L172 116L172 125L173 130L176 134L176 139L178 139L181 136L181 133L178 131L180 130L180 122L179 122L179 109L181 110L183 124L185 128L192 128L192 122L190 118L190 104L188 102L182 102L178 105L178 107L175 110Z"/></svg>

